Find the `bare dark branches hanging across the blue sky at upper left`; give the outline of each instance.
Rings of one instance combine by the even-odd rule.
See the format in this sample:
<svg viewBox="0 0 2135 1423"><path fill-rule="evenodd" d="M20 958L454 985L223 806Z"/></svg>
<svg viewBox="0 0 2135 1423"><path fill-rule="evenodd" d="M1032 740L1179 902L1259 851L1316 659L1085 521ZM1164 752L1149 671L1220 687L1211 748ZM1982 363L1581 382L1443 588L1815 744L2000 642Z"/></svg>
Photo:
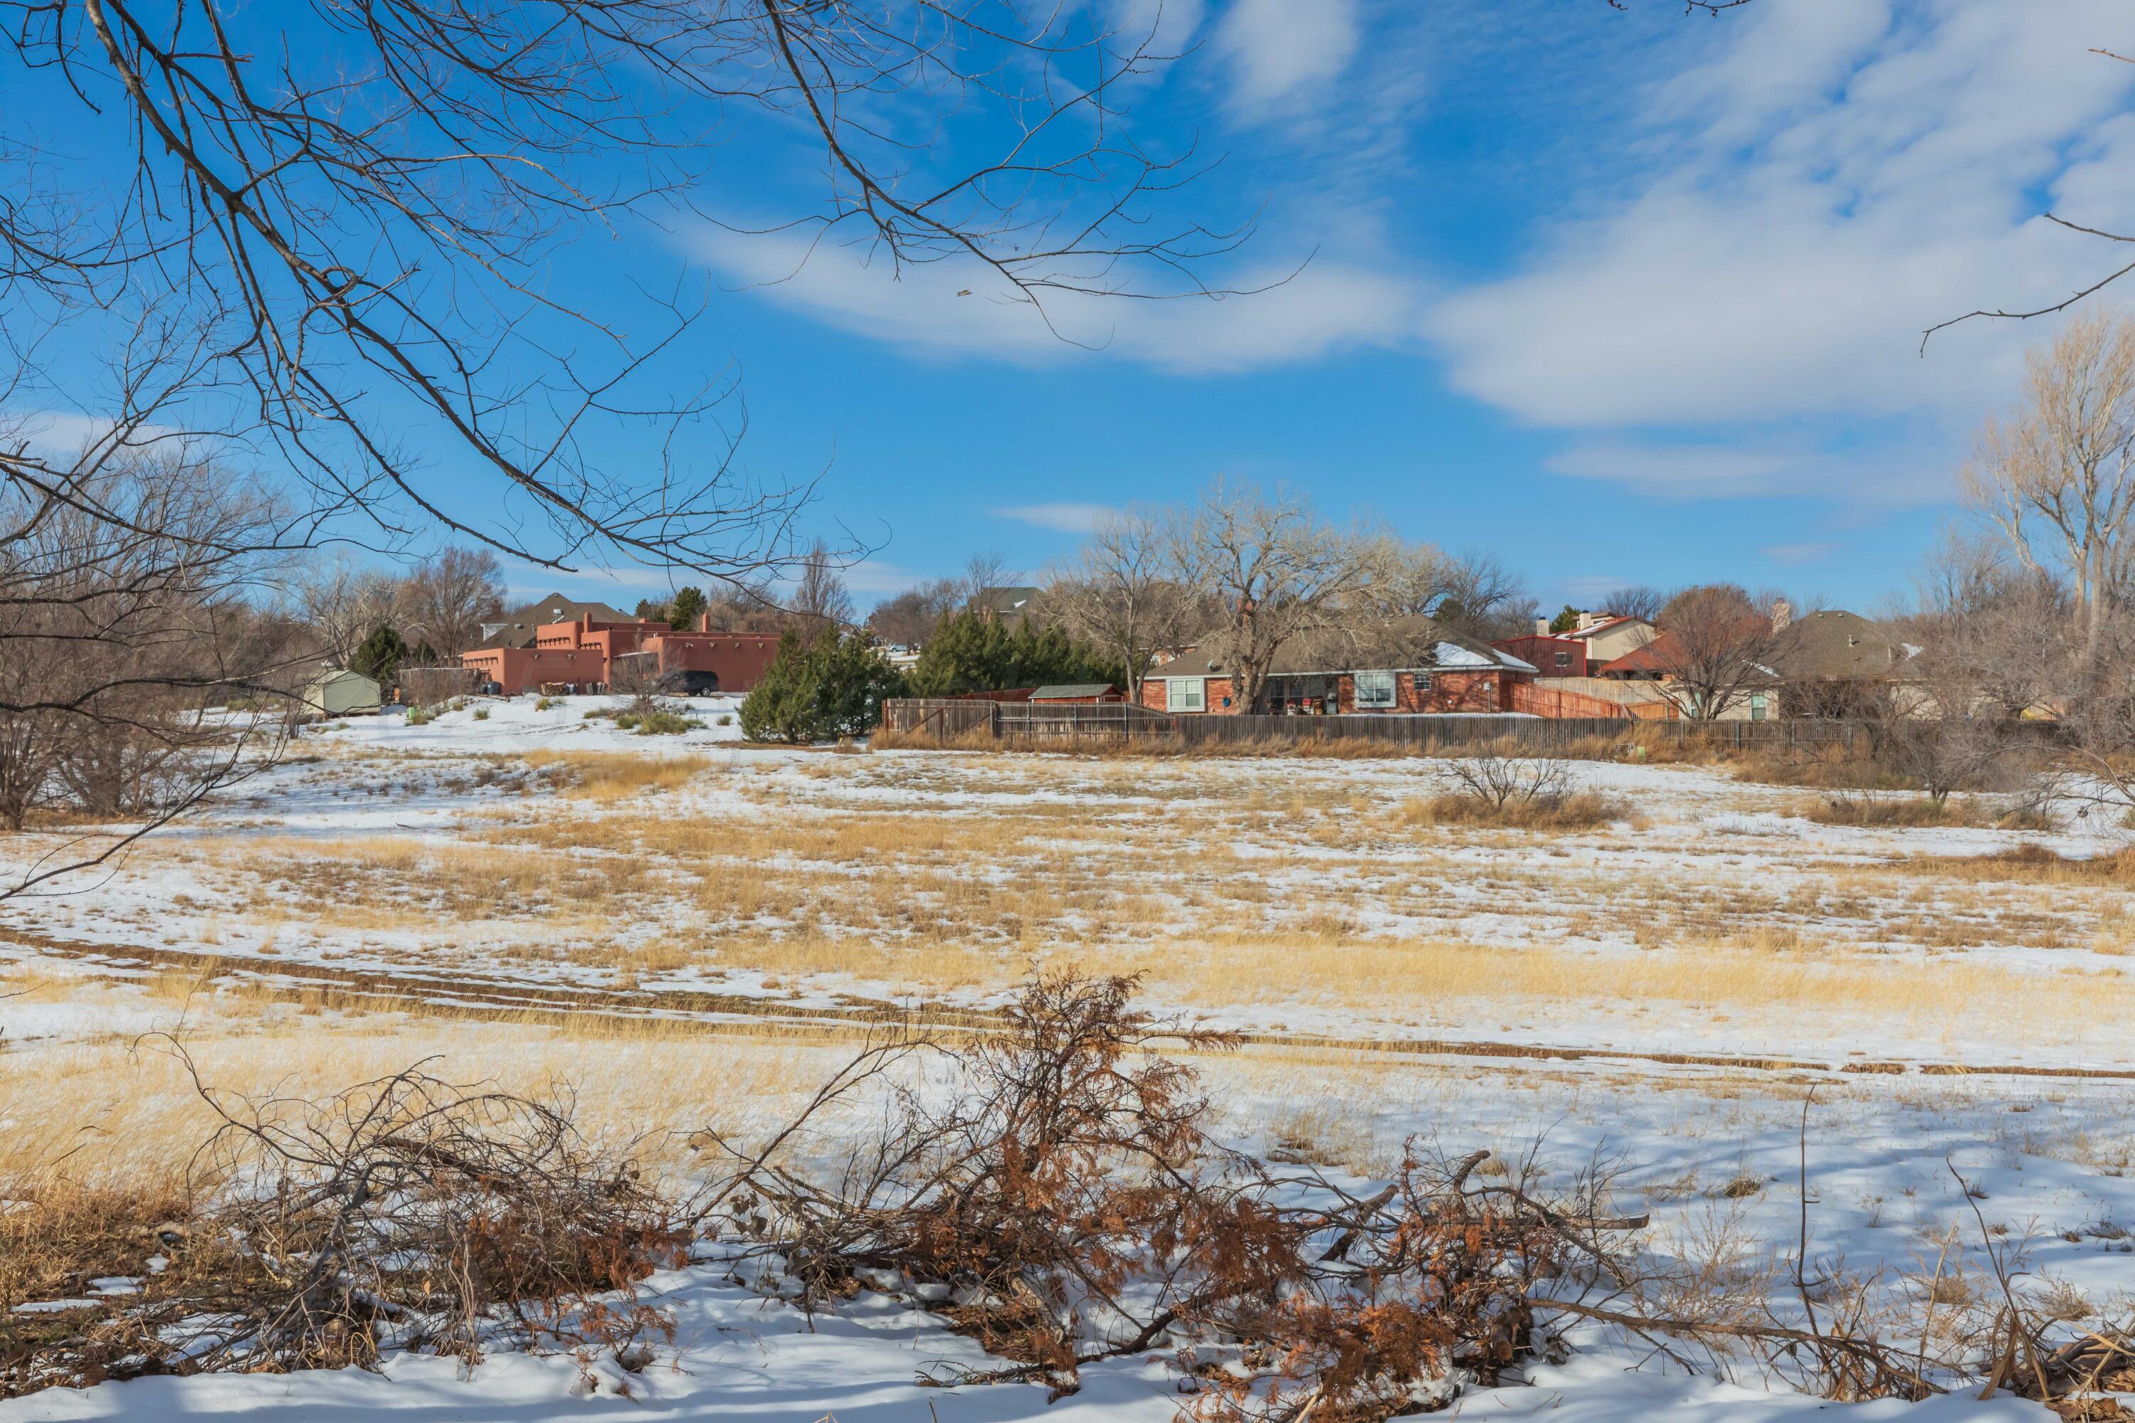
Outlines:
<svg viewBox="0 0 2135 1423"><path fill-rule="evenodd" d="M0 13L11 100L83 143L107 139L124 164L90 186L32 147L0 149L0 282L43 320L179 303L213 337L201 375L246 397L318 510L365 516L391 542L442 525L553 567L604 550L711 578L790 557L805 486L756 489L728 459L643 480L600 457L615 448L594 437L602 425L681 429L715 416L730 386L647 388L687 301L653 301L664 322L647 339L623 335L647 326L643 309L557 301L544 262L579 233L747 213L892 269L967 265L1040 318L1063 294L1213 294L1196 273L1243 235L1166 220L1196 158L1144 149L1119 109L1166 60L1155 23L1091 26L1082 9L6 0ZM974 109L997 128L963 122ZM705 209L702 130L728 111L813 147L811 201L769 224L754 196ZM935 162L952 111L967 145L1001 134L961 169ZM436 442L463 459L431 459ZM476 471L493 499L442 497Z"/></svg>

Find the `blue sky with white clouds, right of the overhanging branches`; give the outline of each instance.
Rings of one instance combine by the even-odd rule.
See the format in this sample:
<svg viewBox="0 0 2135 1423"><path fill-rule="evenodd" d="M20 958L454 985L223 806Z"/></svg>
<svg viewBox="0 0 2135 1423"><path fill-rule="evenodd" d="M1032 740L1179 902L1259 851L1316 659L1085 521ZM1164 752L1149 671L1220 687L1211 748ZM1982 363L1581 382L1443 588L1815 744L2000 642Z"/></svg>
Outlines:
<svg viewBox="0 0 2135 1423"><path fill-rule="evenodd" d="M1085 350L954 265L801 260L792 233L679 218L566 243L553 282L589 305L632 282L709 292L658 373L739 371L743 467L820 476L811 527L871 550L863 606L976 550L1035 574L1095 510L1221 474L1492 550L1550 608L1706 578L1866 608L1902 589L1968 433L2052 335L1973 322L1921 356L1921 329L2114 265L2043 209L2135 226L2135 66L2088 53L2135 43L2126 19L2112 0L1166 0L1185 58L1132 122L1221 156L1172 211L1258 211L1208 275L1296 273L1275 290L1061 301ZM734 117L700 201L788 215L811 196L796 156L792 130ZM529 595L626 606L668 580L512 570Z"/></svg>

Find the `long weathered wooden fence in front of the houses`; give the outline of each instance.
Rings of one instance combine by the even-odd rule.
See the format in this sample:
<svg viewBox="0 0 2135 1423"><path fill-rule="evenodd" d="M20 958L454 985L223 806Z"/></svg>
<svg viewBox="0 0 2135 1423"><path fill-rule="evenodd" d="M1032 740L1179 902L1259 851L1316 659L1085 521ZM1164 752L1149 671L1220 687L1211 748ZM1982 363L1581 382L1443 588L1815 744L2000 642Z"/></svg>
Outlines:
<svg viewBox="0 0 2135 1423"><path fill-rule="evenodd" d="M1586 738L1704 740L1719 747L1830 747L1853 749L1868 736L1855 721L1650 721L1644 717L1228 717L1211 713L1166 715L1114 704L1003 704L963 698L892 698L882 704L882 725L942 740L989 732L1003 747L1061 740L1168 742L1174 747L1219 747L1238 742L1375 740L1396 747L1462 747L1509 736L1529 747L1563 747ZM2024 732L2030 728L2024 725ZM2041 734L2050 728L2041 723Z"/></svg>

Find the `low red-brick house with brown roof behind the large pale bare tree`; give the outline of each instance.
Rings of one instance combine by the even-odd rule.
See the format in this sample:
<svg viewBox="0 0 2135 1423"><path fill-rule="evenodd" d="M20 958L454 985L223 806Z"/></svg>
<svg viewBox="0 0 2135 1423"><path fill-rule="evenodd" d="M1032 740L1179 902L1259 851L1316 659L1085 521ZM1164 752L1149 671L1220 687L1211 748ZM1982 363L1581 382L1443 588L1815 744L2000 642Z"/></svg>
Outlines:
<svg viewBox="0 0 2135 1423"><path fill-rule="evenodd" d="M1236 681L1236 631L1202 638L1142 681L1142 706L1166 713L1448 715L1507 713L1535 666L1426 617L1386 627L1330 627L1283 642L1260 706Z"/></svg>

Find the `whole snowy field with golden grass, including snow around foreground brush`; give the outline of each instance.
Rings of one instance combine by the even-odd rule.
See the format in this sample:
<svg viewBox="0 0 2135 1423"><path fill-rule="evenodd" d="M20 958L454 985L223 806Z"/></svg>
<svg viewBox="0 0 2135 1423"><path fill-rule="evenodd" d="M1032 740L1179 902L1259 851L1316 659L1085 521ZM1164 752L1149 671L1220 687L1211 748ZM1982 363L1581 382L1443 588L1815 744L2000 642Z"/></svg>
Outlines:
<svg viewBox="0 0 2135 1423"><path fill-rule="evenodd" d="M316 1090L436 1056L568 1082L596 1131L747 1126L875 1016L986 1011L1033 962L1080 962L1245 1030L1200 1067L1225 1137L1255 1152L1366 1180L1407 1137L1559 1171L1608 1154L1627 1205L1655 1212L1652 1248L1746 1267L1793 1248L1806 1146L1819 1257L1983 1278L1986 1244L2018 1242L2071 1327L2135 1312L2135 896L2082 866L2112 836L1823 826L1810 792L1640 764L1582 766L1627 806L1597 830L1443 828L1413 811L1445 785L1426 760L766 751L739 745L730 700L694 702L705 725L683 736L587 719L602 706L310 732L211 813L0 902L0 994L19 994L0 998L0 1167L68 1150L92 1176L124 1156L128 1120L181 1141L143 1033L243 1084ZM2052 858L2009 858L2026 845ZM1155 1359L1053 1406L916 1389L929 1361L976 1353L886 1297L809 1325L715 1263L653 1289L681 1333L640 1374L401 1357L376 1376L47 1391L0 1419L1179 1408ZM1830 1408L1650 1359L1625 1374L1640 1350L1582 1342L1462 1417ZM1849 1412L2050 1417L2009 1400Z"/></svg>

